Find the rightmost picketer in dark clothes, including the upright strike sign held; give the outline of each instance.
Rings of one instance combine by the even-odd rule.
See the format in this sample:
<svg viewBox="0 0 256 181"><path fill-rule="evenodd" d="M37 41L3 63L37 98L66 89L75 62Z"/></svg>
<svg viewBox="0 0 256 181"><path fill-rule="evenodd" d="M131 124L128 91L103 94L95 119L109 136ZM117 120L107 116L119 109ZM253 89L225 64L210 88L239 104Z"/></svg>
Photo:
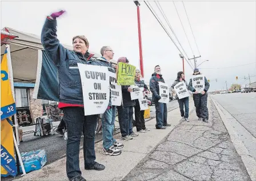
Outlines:
<svg viewBox="0 0 256 181"><path fill-rule="evenodd" d="M193 77L189 81L189 86L193 87L192 92L195 110L197 112L198 120L203 120L204 122L208 122L209 120L209 113L207 108L207 91L210 87L209 82L207 81L206 77L201 75L198 68L194 69ZM203 89L203 90L201 90ZM201 92L201 93L199 93Z"/></svg>

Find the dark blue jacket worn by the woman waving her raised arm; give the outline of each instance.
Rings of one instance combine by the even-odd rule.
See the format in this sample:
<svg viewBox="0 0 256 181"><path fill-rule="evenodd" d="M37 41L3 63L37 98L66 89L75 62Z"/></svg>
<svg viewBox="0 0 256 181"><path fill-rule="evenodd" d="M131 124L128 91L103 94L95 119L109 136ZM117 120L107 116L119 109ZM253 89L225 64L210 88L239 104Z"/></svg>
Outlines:
<svg viewBox="0 0 256 181"><path fill-rule="evenodd" d="M58 68L59 101L67 104L83 105L81 78L77 63L87 64L91 55L86 52L67 50L57 39L57 20L46 19L43 25L41 42L47 54Z"/></svg>

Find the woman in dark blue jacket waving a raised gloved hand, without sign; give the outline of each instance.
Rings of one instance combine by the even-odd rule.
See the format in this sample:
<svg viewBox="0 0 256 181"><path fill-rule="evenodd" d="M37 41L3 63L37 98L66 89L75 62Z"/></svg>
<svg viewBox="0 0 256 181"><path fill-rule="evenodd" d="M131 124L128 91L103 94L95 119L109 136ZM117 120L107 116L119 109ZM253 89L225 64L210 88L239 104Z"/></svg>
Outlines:
<svg viewBox="0 0 256 181"><path fill-rule="evenodd" d="M46 18L42 28L41 42L47 54L58 68L59 106L63 109L63 120L67 126L66 172L69 180L84 181L79 168L79 145L83 132L83 155L85 169L104 170L105 166L95 162L95 129L97 115L85 116L83 92L78 64L87 64L91 59L89 42L85 36L73 38L73 51L67 50L57 39L57 20L65 11L53 13ZM83 128L85 131L83 131Z"/></svg>

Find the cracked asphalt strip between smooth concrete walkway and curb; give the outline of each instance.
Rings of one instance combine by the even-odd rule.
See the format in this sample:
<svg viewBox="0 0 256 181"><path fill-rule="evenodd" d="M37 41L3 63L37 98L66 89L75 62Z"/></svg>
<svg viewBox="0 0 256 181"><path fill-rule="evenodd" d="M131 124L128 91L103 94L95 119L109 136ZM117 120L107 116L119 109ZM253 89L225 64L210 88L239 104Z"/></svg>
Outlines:
<svg viewBox="0 0 256 181"><path fill-rule="evenodd" d="M123 180L251 180L210 98L208 108L208 123L193 110Z"/></svg>

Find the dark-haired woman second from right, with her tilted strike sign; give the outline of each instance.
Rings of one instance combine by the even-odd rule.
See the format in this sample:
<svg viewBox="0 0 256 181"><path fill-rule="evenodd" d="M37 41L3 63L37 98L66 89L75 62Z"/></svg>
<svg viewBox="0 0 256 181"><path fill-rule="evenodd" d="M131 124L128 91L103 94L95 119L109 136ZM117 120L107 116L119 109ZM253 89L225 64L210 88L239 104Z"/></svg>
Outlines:
<svg viewBox="0 0 256 181"><path fill-rule="evenodd" d="M171 85L171 89L175 90L178 102L179 102L179 110L181 111L182 121L189 122L189 90L193 90L192 87L187 85L187 81L184 79L184 72L177 73L177 79L174 80L173 85ZM187 90L189 89L189 90ZM184 113L185 107L185 113Z"/></svg>

